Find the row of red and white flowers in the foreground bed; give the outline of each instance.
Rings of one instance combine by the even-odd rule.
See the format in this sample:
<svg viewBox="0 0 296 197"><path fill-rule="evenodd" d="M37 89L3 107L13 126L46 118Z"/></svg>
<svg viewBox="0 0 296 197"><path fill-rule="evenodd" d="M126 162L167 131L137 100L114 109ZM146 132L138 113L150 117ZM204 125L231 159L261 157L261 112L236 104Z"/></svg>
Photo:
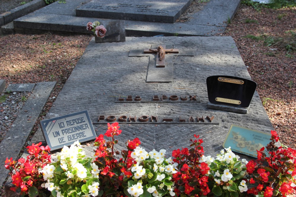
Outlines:
<svg viewBox="0 0 296 197"><path fill-rule="evenodd" d="M126 149L115 150L118 123L96 137L93 157L86 157L76 141L64 146L52 162L48 146L28 146L27 159L6 159L11 190L22 196L287 196L295 193L296 150L276 147L277 133L258 152L256 160L239 160L230 147L215 158L204 156L202 139L194 135L190 148L181 148L165 157L165 149L147 152L135 138ZM104 137L111 140L106 141ZM119 157L121 155L121 157Z"/></svg>

